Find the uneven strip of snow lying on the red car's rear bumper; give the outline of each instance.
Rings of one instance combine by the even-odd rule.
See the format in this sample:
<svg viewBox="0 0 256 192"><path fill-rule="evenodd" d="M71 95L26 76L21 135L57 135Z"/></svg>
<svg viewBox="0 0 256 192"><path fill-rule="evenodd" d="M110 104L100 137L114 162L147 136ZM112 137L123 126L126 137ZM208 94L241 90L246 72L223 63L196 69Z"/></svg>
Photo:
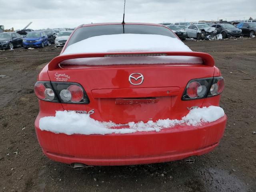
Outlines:
<svg viewBox="0 0 256 192"><path fill-rule="evenodd" d="M181 120L160 119L156 122L149 120L144 123L129 122L128 124L115 124L113 122L99 122L90 118L88 114L78 114L74 111L56 111L55 116L43 117L39 120L40 130L46 130L54 133L72 134L126 134L142 131L159 132L164 128L170 128L175 125L199 126L202 123L213 122L224 116L224 110L218 106L209 106L196 108L182 117ZM128 128L119 128L126 126Z"/></svg>

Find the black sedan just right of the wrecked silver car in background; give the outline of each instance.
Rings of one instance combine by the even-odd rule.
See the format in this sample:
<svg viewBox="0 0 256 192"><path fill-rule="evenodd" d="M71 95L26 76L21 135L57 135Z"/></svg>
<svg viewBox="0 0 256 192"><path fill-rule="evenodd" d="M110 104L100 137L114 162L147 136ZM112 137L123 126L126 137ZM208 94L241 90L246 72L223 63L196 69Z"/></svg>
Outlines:
<svg viewBox="0 0 256 192"><path fill-rule="evenodd" d="M240 37L242 34L242 30L229 23L215 24L212 27L216 28L218 34L222 34L222 38L230 36Z"/></svg>

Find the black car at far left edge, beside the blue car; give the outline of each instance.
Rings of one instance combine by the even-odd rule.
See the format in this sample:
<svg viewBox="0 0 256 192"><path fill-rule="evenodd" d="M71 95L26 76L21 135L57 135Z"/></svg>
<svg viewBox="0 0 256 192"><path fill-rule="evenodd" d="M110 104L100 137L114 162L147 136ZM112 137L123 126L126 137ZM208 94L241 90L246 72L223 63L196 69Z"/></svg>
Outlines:
<svg viewBox="0 0 256 192"><path fill-rule="evenodd" d="M15 32L0 33L0 49L13 49L22 46L23 36Z"/></svg>

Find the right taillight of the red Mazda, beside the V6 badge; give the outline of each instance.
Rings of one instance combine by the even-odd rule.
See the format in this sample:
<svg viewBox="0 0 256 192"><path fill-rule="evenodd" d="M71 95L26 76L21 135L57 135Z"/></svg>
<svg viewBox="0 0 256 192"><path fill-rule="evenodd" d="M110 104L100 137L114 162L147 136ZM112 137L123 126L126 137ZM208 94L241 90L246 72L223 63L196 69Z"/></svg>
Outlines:
<svg viewBox="0 0 256 192"><path fill-rule="evenodd" d="M194 79L188 82L182 100L200 99L215 96L224 90L225 82L222 77Z"/></svg>

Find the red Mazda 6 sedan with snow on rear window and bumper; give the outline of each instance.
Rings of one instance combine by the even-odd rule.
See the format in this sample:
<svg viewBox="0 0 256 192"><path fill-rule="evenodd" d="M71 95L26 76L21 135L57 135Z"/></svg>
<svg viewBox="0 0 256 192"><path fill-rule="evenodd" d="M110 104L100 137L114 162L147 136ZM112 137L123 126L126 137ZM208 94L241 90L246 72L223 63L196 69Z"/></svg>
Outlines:
<svg viewBox="0 0 256 192"><path fill-rule="evenodd" d="M38 142L67 164L199 156L223 135L223 89L212 56L193 52L166 26L81 25L38 75Z"/></svg>

